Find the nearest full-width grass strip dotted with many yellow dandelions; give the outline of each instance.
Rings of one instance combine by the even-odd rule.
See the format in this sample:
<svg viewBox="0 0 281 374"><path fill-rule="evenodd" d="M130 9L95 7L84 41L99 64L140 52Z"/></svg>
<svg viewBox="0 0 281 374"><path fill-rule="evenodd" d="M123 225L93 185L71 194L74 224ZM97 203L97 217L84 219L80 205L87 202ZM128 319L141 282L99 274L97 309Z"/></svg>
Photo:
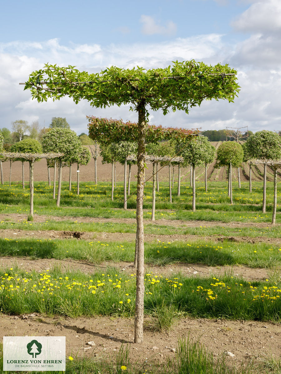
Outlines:
<svg viewBox="0 0 281 374"><path fill-rule="evenodd" d="M92 274L59 268L42 273L7 269L0 277L0 310L5 314L135 315L134 273L114 268ZM155 316L155 310L172 306L177 316L280 322L280 287L280 281L247 282L229 275L200 279L147 273L144 310Z"/></svg>

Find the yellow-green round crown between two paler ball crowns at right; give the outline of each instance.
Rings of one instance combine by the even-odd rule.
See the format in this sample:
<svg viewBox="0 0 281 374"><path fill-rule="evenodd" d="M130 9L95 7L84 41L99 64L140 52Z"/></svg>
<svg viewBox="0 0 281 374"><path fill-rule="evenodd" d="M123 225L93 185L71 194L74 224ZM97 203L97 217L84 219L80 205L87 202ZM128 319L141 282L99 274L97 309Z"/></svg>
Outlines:
<svg viewBox="0 0 281 374"><path fill-rule="evenodd" d="M243 161L242 145L236 141L224 141L217 149L217 167L232 164L234 167L241 166Z"/></svg>

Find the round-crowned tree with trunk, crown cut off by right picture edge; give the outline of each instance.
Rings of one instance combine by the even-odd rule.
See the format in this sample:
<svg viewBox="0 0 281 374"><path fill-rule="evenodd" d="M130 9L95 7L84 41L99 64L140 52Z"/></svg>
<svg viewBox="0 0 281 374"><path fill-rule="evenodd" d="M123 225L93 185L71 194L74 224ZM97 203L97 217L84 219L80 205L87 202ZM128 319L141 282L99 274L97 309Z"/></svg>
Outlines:
<svg viewBox="0 0 281 374"><path fill-rule="evenodd" d="M276 132L269 130L257 131L247 139L249 158L265 160L263 165L263 205L266 210L266 161L281 159L281 138Z"/></svg>

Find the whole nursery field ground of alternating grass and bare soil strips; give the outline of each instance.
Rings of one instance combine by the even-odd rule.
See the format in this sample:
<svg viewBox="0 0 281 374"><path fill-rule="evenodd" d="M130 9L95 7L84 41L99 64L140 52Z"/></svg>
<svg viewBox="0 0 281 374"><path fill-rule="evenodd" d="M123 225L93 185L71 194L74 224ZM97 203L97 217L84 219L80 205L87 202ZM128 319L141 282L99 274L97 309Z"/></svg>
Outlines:
<svg viewBox="0 0 281 374"><path fill-rule="evenodd" d="M211 179L206 192L199 178L195 212L188 178L180 196L175 182L172 203L160 180L155 221L151 181L145 186L140 344L136 196L124 210L121 183L112 201L109 178L81 179L79 195L63 183L58 208L52 186L37 181L28 221L28 183L0 185L2 336L66 336L67 373L281 373L280 183L273 226L270 173L266 214L258 178L252 193L247 181L233 182L233 205L226 181Z"/></svg>

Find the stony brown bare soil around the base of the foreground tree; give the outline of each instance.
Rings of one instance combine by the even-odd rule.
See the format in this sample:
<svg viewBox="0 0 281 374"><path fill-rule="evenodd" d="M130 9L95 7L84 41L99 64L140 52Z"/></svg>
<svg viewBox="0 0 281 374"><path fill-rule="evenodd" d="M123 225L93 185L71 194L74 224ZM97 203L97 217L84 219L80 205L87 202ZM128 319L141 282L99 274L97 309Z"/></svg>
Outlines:
<svg viewBox="0 0 281 374"><path fill-rule="evenodd" d="M227 321L210 319L180 319L170 334L156 333L152 319L145 318L144 341L134 344L134 321L126 318L99 317L47 318L32 316L0 316L1 336L65 336L66 356L115 356L122 343L130 344L130 361L144 364L166 362L175 353L179 337L194 338L203 343L214 355L232 352L227 362L249 361L263 353L278 356L281 350L281 326L266 322ZM88 341L94 341L90 346Z"/></svg>

